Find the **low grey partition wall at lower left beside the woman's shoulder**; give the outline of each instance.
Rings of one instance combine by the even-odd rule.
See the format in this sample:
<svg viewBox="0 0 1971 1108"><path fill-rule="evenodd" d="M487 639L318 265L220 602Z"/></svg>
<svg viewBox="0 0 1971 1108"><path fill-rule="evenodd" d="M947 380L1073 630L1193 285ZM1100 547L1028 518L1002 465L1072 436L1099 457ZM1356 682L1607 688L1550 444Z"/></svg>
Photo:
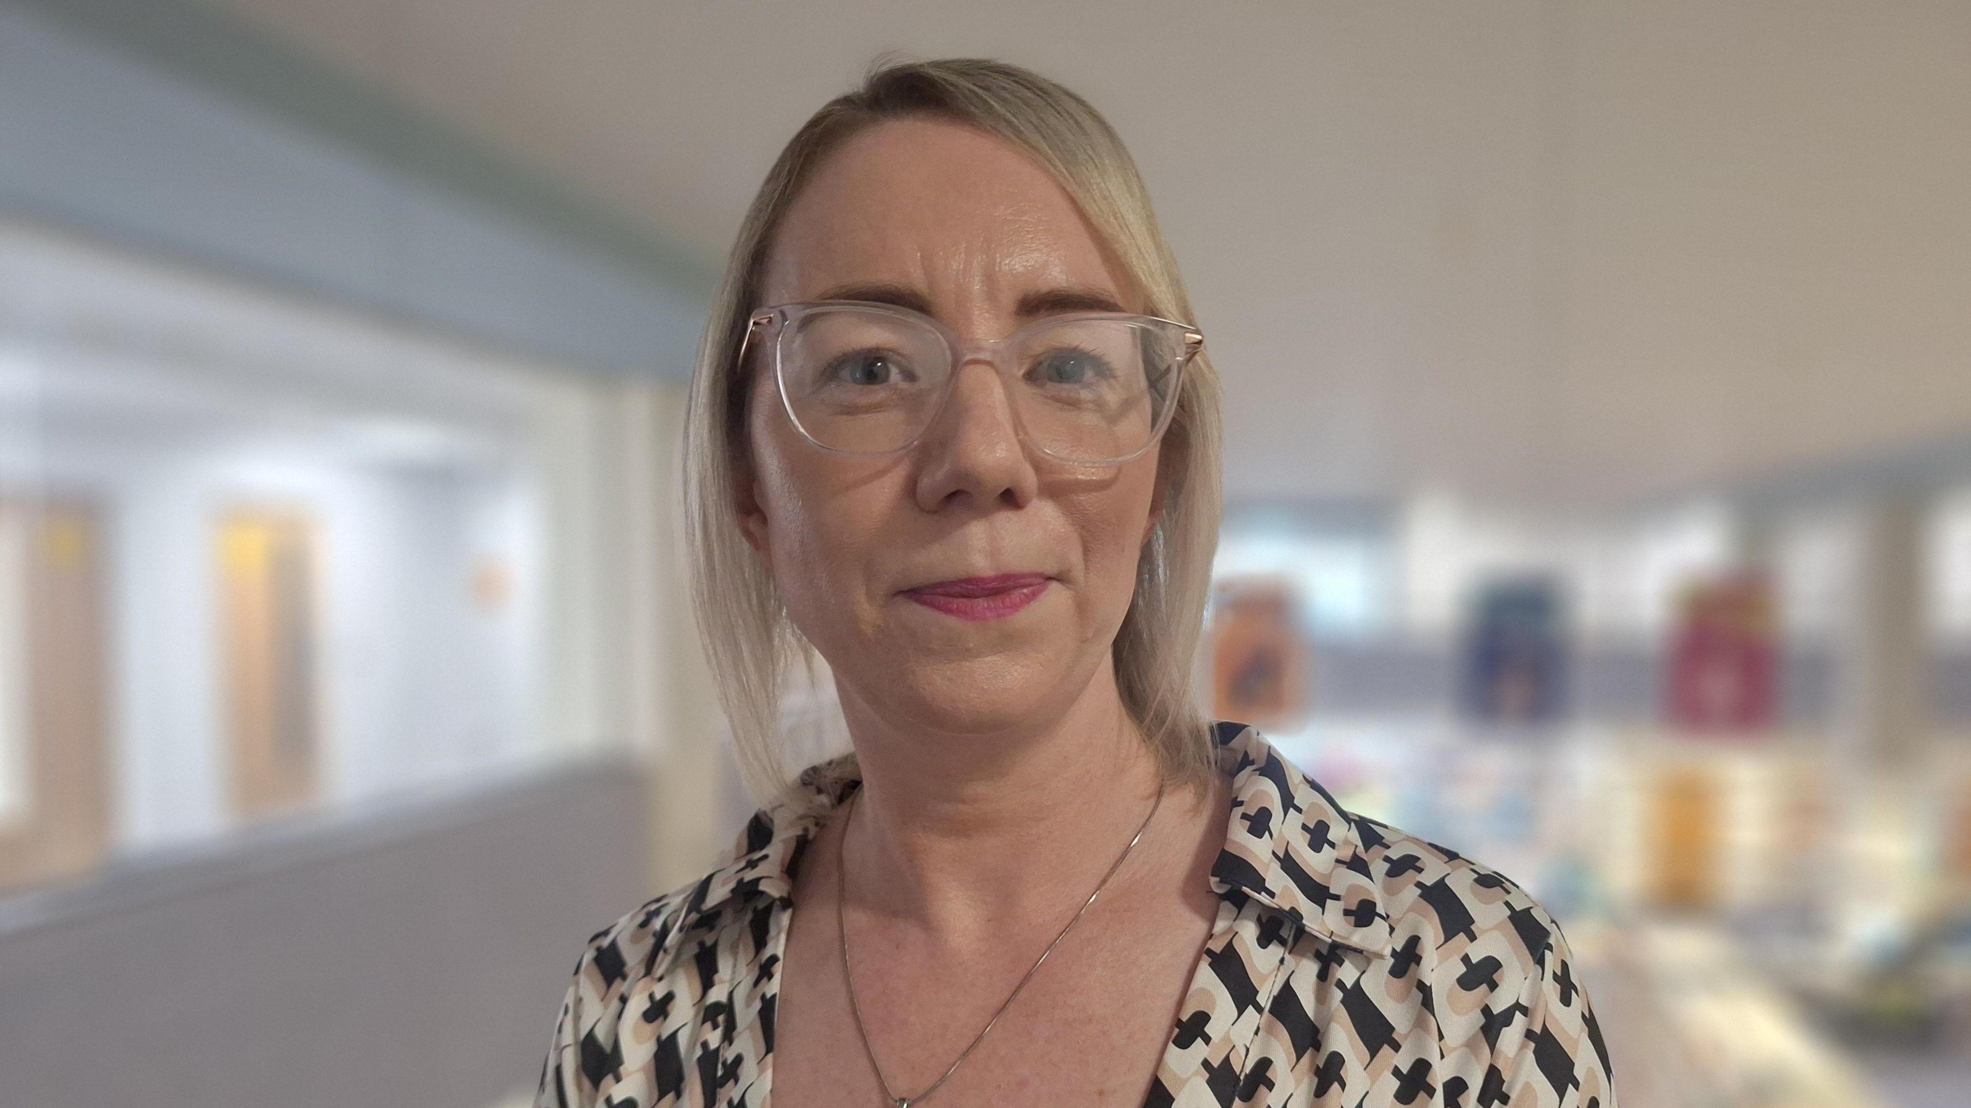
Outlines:
<svg viewBox="0 0 1971 1108"><path fill-rule="evenodd" d="M0 1104L487 1108L645 826L611 761L0 901Z"/></svg>

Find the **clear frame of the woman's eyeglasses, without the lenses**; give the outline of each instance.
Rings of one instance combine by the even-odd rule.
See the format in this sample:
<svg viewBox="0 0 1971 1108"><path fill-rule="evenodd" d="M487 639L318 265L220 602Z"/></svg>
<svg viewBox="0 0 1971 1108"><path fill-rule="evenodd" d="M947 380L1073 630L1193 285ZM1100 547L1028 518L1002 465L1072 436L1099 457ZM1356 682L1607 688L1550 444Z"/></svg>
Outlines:
<svg viewBox="0 0 1971 1108"><path fill-rule="evenodd" d="M903 446L889 448L889 450L844 450L844 448L838 448L838 446L828 446L826 442L822 442L820 438L816 438L812 430L808 430L802 424L800 414L794 410L794 400L792 400L792 396L788 396L788 390L786 390L784 339L794 331L794 327L804 317L814 315L814 313L822 313L822 312L844 312L844 310L855 310L855 312L869 312L869 313L889 315L889 317L893 317L897 321L924 327L930 333L938 335L938 339L944 343L944 351L950 357L950 371L944 375L944 384L942 384L936 400L932 402L930 412L924 416L924 426L918 428L917 434L911 436L911 440L905 442ZM1167 394L1169 394L1169 398L1165 400L1163 410L1157 414L1153 426L1149 428L1149 434L1145 436L1143 444L1137 446L1135 450L1131 450L1129 453L1120 455L1120 457L1090 459L1090 457L1066 455L1066 453L1060 453L1056 450L1049 450L1047 444L1043 444L1037 436L1031 434L1031 430L1027 428L1027 420L1021 414L1021 404L1017 404L1017 402L1011 404L1013 430L1019 434L1019 440L1025 446L1029 446L1029 448L1033 448L1033 450L1041 451L1043 455L1053 457L1056 461L1068 461L1068 463L1074 463L1074 465L1123 465L1127 461L1135 461L1145 451L1149 451L1149 448L1155 446L1157 440L1163 438L1163 432L1171 426L1171 418L1175 416L1179 398L1183 396L1185 371L1190 367L1190 361L1196 359L1204 351L1204 333L1198 331L1196 327L1192 327L1190 323L1179 323L1177 319L1163 319L1159 315L1133 315L1133 313L1121 313L1121 312L1068 312L1068 313L1056 313L1056 315L1043 315L1043 317L1039 317L1039 319L1035 319L1035 321L1031 321L1031 323L1015 329L1013 333L1009 333L1009 335L1005 335L1001 339L972 339L972 341L966 341L966 339L960 339L950 327L946 327L938 319L934 319L930 315L924 315L922 312L915 312L911 308L901 308L901 306L895 306L895 304L881 304L881 302L867 302L867 300L804 300L804 302L792 302L792 304L777 304L773 308L763 308L763 310L755 312L747 319L745 333L739 339L739 357L737 357L737 363L739 363L739 367L745 367L747 365L747 353L755 345L755 335L761 335L763 331L771 331L771 353L773 353L773 367L771 369L773 369L775 392L781 396L781 410L786 414L786 420L790 424L794 424L794 430L800 432L800 438L808 440L808 444L812 444L816 450L826 450L828 453L842 453L842 455L850 455L850 457L891 457L891 455L905 453L911 448L915 448L918 442L922 442L924 434L932 426L936 426L938 418L944 414L944 406L950 402L950 394L952 394L952 388L954 388L954 384L958 381L958 369L960 367L970 365L972 361L986 361L986 363L989 363L993 367L993 371L999 375L1001 384L1009 388L1009 396L1011 396L1013 394L1011 386L1015 384L1015 381L1019 377L1019 367L1013 365L1011 359L1005 357L1005 353L1019 349L1019 345L1023 341L1027 341L1037 331L1043 331L1047 327L1060 327L1064 323L1086 321L1086 319L1112 319L1112 321L1129 323L1133 327L1161 329L1169 337L1175 339L1171 343L1171 349L1175 351L1173 357L1171 357L1171 367L1169 367L1169 375L1171 377L1169 377L1167 388L1165 388ZM759 339L759 341L767 341L767 339Z"/></svg>

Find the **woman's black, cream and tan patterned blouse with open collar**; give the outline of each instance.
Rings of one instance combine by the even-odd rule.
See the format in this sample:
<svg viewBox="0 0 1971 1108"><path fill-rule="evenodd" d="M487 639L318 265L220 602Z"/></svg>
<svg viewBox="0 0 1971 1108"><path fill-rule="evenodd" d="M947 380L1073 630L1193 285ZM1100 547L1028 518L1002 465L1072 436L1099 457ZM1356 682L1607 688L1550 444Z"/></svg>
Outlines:
<svg viewBox="0 0 1971 1108"><path fill-rule="evenodd" d="M1218 724L1218 919L1145 1108L1614 1108L1567 940L1524 889L1350 816ZM589 938L536 1108L765 1108L794 869L853 755L761 810L733 862Z"/></svg>

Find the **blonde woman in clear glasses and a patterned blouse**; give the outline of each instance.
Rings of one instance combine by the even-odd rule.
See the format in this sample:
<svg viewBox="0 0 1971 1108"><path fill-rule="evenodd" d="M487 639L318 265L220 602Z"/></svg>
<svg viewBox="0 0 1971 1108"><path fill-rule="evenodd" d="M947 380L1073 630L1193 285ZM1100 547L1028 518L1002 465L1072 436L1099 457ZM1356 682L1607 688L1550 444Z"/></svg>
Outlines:
<svg viewBox="0 0 1971 1108"><path fill-rule="evenodd" d="M1539 905L1200 718L1190 321L1127 152L1051 81L893 65L792 138L686 434L769 804L591 938L538 1104L1614 1104ZM853 753L788 783L810 649Z"/></svg>

